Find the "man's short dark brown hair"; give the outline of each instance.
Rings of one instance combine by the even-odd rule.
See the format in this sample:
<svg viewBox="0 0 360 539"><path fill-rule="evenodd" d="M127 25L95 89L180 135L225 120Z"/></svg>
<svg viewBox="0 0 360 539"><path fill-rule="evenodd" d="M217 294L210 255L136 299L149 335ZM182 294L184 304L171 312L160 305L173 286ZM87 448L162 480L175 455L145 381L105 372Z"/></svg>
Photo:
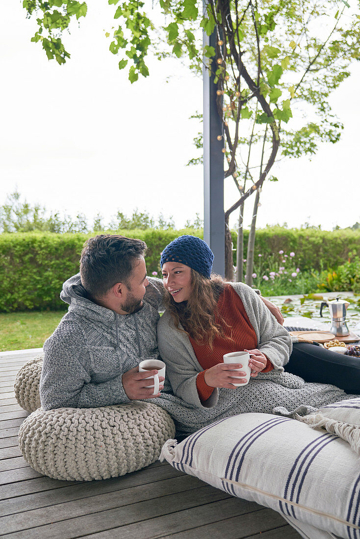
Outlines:
<svg viewBox="0 0 360 539"><path fill-rule="evenodd" d="M80 256L81 284L91 298L101 298L117 282L127 287L136 260L146 253L140 239L100 234L85 241Z"/></svg>

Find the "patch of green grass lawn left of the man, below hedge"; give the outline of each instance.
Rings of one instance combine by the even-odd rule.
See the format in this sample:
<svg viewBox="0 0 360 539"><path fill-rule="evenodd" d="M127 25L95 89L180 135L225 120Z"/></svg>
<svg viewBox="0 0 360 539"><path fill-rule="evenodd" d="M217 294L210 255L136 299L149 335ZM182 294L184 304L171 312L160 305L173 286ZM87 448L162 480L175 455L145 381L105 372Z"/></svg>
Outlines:
<svg viewBox="0 0 360 539"><path fill-rule="evenodd" d="M66 311L65 311L66 312ZM41 348L65 314L62 310L1 313L0 351Z"/></svg>

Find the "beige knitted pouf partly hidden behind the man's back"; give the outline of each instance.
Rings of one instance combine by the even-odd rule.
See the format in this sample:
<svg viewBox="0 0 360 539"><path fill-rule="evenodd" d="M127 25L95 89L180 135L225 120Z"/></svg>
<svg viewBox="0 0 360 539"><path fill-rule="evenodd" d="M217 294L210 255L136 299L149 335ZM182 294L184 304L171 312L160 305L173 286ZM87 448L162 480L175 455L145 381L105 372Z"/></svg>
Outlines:
<svg viewBox="0 0 360 539"><path fill-rule="evenodd" d="M40 404L40 376L43 367L43 354L28 361L15 378L15 397L19 405L28 412L37 410Z"/></svg>

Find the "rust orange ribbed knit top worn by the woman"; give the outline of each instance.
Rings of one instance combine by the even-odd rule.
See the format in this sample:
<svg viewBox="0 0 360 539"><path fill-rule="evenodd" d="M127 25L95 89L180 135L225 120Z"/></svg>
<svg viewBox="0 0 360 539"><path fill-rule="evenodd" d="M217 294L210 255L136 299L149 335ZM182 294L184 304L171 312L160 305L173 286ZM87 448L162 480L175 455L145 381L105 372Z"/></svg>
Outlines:
<svg viewBox="0 0 360 539"><path fill-rule="evenodd" d="M222 320L225 320L228 326L221 324ZM198 388L201 402L205 402L214 391L214 388L205 383L204 376L207 369L214 367L218 363L223 363L222 356L224 354L257 348L255 330L252 324L250 324L249 317L246 314L239 295L236 294L234 288L230 285L225 285L220 295L218 314L215 315L215 322L222 325L225 337L216 336L213 342L213 349L207 344L198 344L193 338L189 337L195 356L204 369L196 377L196 387ZM230 337L232 340L228 340L226 337ZM272 369L273 364L268 360L262 372L269 372Z"/></svg>

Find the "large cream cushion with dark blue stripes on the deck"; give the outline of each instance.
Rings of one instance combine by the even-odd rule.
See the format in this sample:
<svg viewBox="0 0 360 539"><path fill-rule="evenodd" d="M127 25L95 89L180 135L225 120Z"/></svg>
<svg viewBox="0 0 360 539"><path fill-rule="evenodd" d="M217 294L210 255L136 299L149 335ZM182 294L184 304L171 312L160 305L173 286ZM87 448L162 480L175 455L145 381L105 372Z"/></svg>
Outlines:
<svg viewBox="0 0 360 539"><path fill-rule="evenodd" d="M360 539L360 460L336 434L295 419L244 413L179 444L168 440L160 459L275 509L303 537Z"/></svg>

